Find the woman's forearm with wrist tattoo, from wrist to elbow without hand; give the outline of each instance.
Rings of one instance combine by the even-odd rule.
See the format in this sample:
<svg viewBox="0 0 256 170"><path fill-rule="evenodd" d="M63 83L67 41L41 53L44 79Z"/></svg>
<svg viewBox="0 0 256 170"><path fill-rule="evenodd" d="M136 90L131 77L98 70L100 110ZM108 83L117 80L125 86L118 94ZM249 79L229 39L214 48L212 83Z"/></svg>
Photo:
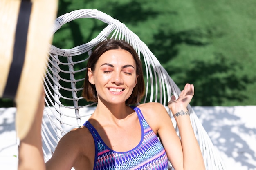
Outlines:
<svg viewBox="0 0 256 170"><path fill-rule="evenodd" d="M191 126L188 110L180 109L173 115L180 132L184 170L204 170L202 153Z"/></svg>

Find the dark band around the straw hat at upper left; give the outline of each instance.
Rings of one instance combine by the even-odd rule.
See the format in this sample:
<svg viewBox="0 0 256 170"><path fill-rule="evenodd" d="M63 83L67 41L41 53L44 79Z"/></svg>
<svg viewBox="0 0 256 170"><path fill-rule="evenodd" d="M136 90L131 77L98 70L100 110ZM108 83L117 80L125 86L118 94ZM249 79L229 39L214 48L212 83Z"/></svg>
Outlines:
<svg viewBox="0 0 256 170"><path fill-rule="evenodd" d="M20 82L20 75L25 60L27 33L29 27L31 8L32 3L30 0L21 1L15 33L13 61L11 63L3 97L14 99L17 93L18 84Z"/></svg>

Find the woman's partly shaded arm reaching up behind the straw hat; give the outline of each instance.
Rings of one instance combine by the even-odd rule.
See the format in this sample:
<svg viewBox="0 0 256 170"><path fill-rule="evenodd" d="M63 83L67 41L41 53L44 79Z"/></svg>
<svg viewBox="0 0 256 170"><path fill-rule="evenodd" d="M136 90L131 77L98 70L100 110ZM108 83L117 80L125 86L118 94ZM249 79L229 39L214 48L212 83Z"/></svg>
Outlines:
<svg viewBox="0 0 256 170"><path fill-rule="evenodd" d="M18 170L70 170L81 151L77 136L81 131L73 130L63 136L52 158L45 164L42 150L41 124L45 107L44 93L38 104L34 122L27 136L20 141Z"/></svg>

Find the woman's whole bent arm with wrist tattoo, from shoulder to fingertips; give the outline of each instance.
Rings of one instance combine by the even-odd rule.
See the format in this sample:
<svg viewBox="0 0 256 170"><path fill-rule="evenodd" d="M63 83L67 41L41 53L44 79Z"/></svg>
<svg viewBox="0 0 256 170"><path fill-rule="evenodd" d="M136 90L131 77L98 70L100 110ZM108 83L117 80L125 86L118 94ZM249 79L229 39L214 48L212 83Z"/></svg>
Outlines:
<svg viewBox="0 0 256 170"><path fill-rule="evenodd" d="M187 110L193 95L194 86L186 84L179 98L175 99L172 96L168 103L168 107L177 121L181 140L177 136L171 118L162 104L141 104L146 120L154 132L159 135L168 159L175 170L205 170L202 153L195 138Z"/></svg>

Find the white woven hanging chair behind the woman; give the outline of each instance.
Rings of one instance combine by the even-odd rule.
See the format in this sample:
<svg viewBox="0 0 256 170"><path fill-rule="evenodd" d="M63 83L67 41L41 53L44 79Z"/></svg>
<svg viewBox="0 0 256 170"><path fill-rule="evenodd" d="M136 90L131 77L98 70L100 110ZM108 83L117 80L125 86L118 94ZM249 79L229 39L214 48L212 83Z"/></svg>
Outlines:
<svg viewBox="0 0 256 170"><path fill-rule="evenodd" d="M95 108L92 106L94 103L81 104L85 101L81 97L83 77L85 77L86 71L85 63L92 53L92 48L106 38L122 39L129 42L144 63L146 95L143 102L159 102L166 106L172 94L177 97L180 93L180 89L144 42L119 20L101 11L81 9L66 13L56 19L53 33L67 22L78 18L95 18L105 22L108 26L90 42L72 49L51 46L44 80L46 106L48 106L45 108L42 124L45 161L51 157L58 140L72 128L82 126ZM82 57L81 54L83 54ZM66 93L63 91L69 92L70 95L64 96ZM65 106L63 101L72 101L73 106ZM224 166L218 150L213 146L191 106L188 106L188 110L191 113L191 123L200 144L206 169L223 170ZM167 111L171 115L170 110L167 109ZM174 119L172 120L177 134L179 134L176 122Z"/></svg>

